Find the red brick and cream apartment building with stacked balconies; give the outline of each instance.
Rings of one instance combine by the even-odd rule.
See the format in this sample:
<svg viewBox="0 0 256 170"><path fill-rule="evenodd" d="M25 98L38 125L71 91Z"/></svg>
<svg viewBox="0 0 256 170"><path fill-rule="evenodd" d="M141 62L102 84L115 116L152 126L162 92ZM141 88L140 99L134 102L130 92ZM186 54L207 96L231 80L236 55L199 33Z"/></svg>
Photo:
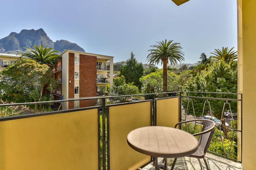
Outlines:
<svg viewBox="0 0 256 170"><path fill-rule="evenodd" d="M65 50L57 60L54 78L59 82L54 99L72 99L104 95L107 84L113 85L113 57ZM60 104L60 103L59 103ZM63 102L62 109L94 106L94 101Z"/></svg>

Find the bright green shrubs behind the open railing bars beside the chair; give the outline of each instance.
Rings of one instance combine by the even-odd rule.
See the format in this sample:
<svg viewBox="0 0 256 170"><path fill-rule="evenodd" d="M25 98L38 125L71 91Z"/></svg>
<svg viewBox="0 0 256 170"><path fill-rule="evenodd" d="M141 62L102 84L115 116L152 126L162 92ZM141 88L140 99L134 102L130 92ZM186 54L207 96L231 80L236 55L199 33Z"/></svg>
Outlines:
<svg viewBox="0 0 256 170"><path fill-rule="evenodd" d="M195 129L195 132L194 132L194 129ZM199 132L201 132L201 125L199 125L199 124L192 125L191 123L187 123L187 125L183 124L182 130L184 130L190 134L199 133ZM215 132L212 136L212 140L211 140L210 147L209 147L208 151L215 152L220 155L226 156L226 154L224 153L220 133L222 134L225 152L229 153L229 150L230 150L230 147L232 144L232 142L231 142L232 139L231 140L224 139L223 132L220 131L217 127L215 128ZM197 136L197 138L198 138L198 136ZM237 145L236 145L235 141L237 141L237 140L233 141L233 144L231 147L231 152L230 152L230 155L228 156L229 158L232 158L232 159L237 159Z"/></svg>

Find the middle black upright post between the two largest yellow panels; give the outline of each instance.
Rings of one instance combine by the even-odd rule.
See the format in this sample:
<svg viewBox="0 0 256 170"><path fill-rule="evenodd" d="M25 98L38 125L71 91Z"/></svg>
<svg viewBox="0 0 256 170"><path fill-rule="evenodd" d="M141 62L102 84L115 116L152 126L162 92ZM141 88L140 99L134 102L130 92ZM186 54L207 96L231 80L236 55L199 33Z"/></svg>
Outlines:
<svg viewBox="0 0 256 170"><path fill-rule="evenodd" d="M106 100L102 98L102 167L106 170Z"/></svg>

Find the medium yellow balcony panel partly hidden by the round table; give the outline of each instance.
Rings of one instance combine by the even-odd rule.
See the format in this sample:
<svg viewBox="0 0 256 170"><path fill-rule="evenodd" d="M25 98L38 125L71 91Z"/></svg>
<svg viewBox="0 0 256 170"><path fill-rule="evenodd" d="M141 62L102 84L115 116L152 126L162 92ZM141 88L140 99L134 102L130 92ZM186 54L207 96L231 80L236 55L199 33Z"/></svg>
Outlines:
<svg viewBox="0 0 256 170"><path fill-rule="evenodd" d="M110 169L134 170L151 157L133 150L127 144L132 130L150 126L151 102L134 103L109 108Z"/></svg>

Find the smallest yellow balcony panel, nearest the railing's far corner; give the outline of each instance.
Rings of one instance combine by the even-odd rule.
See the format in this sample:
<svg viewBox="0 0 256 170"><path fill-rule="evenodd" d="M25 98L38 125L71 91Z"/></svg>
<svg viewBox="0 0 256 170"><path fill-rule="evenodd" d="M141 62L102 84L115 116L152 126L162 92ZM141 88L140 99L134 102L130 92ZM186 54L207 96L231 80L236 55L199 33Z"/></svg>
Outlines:
<svg viewBox="0 0 256 170"><path fill-rule="evenodd" d="M179 98L156 101L157 126L174 127L179 122Z"/></svg>

